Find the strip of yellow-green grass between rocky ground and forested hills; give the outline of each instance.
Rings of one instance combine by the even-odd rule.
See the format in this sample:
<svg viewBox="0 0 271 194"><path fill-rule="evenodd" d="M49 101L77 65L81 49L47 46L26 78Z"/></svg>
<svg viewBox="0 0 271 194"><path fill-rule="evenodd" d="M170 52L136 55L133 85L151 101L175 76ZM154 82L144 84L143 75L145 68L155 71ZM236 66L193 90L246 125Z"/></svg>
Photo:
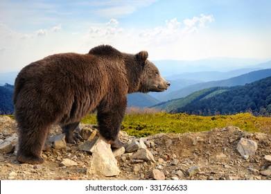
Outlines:
<svg viewBox="0 0 271 194"><path fill-rule="evenodd" d="M96 115L86 116L82 123L96 124ZM121 130L132 136L148 136L157 133L202 132L216 127L234 125L247 132L271 134L271 118L256 117L252 114L227 116L195 116L187 114L127 114Z"/></svg>

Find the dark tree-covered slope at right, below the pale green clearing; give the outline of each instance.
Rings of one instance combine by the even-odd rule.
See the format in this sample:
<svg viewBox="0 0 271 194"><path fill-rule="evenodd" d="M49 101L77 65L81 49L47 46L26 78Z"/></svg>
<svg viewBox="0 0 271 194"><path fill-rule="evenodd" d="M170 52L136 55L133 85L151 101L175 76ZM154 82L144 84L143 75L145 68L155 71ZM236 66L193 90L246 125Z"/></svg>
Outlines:
<svg viewBox="0 0 271 194"><path fill-rule="evenodd" d="M231 87L229 91L210 98L194 100L171 112L186 112L196 115L236 114L252 112L256 115L271 114L271 77L245 86Z"/></svg>

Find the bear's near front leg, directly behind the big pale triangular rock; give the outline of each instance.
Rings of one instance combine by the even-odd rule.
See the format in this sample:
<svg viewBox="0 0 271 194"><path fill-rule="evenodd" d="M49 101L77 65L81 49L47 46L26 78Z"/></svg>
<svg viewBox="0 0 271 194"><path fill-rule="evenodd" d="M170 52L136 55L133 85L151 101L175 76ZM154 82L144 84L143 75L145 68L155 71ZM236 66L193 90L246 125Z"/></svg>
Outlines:
<svg viewBox="0 0 271 194"><path fill-rule="evenodd" d="M121 122L126 109L126 99L123 103L106 107L99 106L97 108L97 121L98 121L98 130L100 135L107 140L112 148L121 148L124 143L119 140L119 130L121 129Z"/></svg>

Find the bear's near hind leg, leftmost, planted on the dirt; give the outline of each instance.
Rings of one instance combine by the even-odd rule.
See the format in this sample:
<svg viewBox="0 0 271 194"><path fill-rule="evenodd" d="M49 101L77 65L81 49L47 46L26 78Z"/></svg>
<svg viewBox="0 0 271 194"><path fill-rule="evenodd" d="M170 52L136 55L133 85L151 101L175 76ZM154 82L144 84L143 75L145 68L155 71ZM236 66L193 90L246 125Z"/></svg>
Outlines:
<svg viewBox="0 0 271 194"><path fill-rule="evenodd" d="M42 148L49 132L49 126L19 127L19 149L17 160L27 164L42 164Z"/></svg>

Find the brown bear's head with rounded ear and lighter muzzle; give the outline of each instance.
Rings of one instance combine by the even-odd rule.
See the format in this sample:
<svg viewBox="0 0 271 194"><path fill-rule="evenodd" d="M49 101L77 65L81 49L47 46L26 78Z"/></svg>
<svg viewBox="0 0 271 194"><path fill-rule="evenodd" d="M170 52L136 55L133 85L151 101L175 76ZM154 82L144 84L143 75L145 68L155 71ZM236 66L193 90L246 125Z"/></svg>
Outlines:
<svg viewBox="0 0 271 194"><path fill-rule="evenodd" d="M141 51L137 53L137 60L141 65L143 65L143 69L141 71L141 76L139 78L139 91L142 93L147 93L149 91L165 91L171 85L170 82L166 81L159 70L150 62L148 58L147 51Z"/></svg>

